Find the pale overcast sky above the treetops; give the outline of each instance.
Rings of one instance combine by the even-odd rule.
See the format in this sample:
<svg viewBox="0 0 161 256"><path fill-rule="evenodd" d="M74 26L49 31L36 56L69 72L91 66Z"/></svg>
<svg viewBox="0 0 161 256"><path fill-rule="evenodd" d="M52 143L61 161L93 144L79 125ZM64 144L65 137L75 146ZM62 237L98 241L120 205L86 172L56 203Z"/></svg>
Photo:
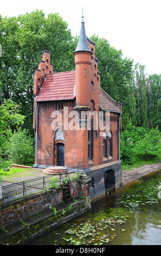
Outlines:
<svg viewBox="0 0 161 256"><path fill-rule="evenodd" d="M87 36L106 38L111 46L122 50L124 58L145 65L149 75L161 74L161 0L6 0L1 2L0 14L18 16L36 9L44 11L46 17L59 13L76 36L82 5Z"/></svg>

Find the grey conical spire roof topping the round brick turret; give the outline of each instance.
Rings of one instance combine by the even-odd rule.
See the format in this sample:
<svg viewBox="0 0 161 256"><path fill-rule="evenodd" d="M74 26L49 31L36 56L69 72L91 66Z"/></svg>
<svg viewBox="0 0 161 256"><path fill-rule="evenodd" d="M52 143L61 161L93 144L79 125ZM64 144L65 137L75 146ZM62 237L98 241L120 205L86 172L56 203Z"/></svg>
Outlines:
<svg viewBox="0 0 161 256"><path fill-rule="evenodd" d="M89 48L88 41L86 38L83 11L82 11L82 22L81 22L81 27L80 27L79 40L78 40L78 45L77 45L75 52L91 52L92 53L92 51ZM73 52L73 53L75 53L75 52Z"/></svg>

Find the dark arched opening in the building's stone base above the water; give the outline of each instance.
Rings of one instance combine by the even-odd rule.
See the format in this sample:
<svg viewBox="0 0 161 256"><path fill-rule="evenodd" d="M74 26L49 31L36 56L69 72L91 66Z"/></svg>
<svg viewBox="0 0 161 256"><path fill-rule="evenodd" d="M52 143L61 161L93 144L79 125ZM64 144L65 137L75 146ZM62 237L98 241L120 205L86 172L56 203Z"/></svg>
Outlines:
<svg viewBox="0 0 161 256"><path fill-rule="evenodd" d="M115 172L114 172L114 170L107 170L107 172L104 173L104 186L105 186L106 194L115 190Z"/></svg>

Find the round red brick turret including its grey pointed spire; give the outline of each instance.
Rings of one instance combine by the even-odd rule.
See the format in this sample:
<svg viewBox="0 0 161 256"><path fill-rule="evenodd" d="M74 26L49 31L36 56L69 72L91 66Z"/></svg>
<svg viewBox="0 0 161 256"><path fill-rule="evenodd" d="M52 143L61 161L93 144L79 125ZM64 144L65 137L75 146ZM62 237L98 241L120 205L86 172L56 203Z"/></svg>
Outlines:
<svg viewBox="0 0 161 256"><path fill-rule="evenodd" d="M90 65L92 51L89 48L85 34L84 16L82 11L82 22L78 45L73 52L76 65L76 107L75 109L91 109L90 107Z"/></svg>

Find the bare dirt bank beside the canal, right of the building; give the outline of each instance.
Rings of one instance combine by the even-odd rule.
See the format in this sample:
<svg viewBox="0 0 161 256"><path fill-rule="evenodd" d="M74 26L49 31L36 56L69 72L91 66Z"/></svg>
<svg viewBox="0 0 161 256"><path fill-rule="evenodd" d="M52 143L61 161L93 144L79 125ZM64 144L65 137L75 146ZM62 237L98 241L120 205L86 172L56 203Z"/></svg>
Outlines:
<svg viewBox="0 0 161 256"><path fill-rule="evenodd" d="M132 170L122 170L122 185L127 184L146 174L161 170L161 163L145 164L144 166L133 168Z"/></svg>

